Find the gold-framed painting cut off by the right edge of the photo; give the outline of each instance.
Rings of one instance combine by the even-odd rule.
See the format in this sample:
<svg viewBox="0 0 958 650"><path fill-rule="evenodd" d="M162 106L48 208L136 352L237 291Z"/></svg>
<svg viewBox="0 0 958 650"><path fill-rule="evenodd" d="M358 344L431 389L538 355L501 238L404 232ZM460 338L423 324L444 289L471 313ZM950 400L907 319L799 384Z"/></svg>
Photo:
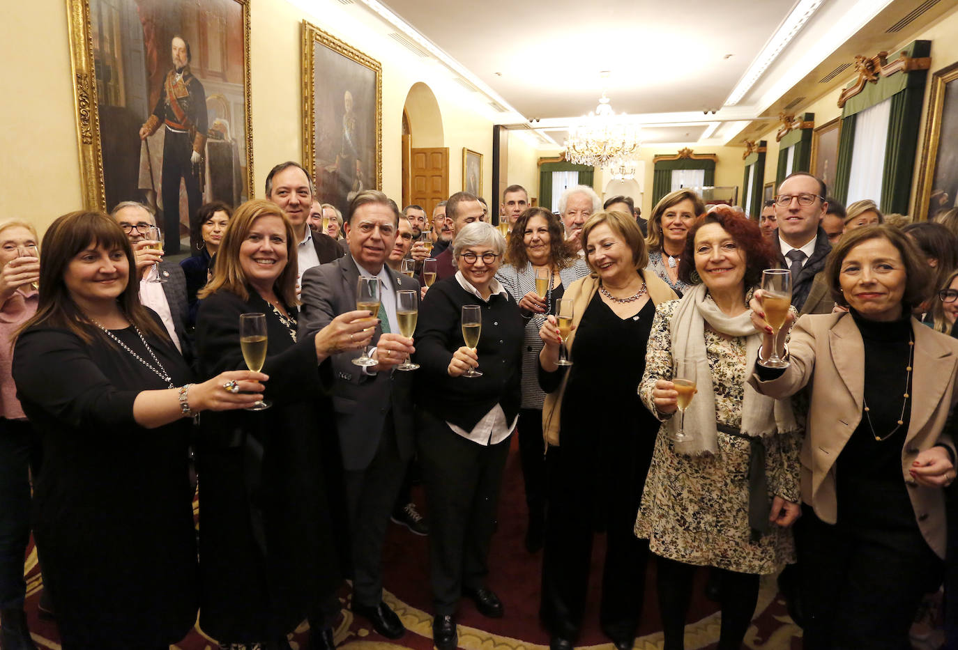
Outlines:
<svg viewBox="0 0 958 650"><path fill-rule="evenodd" d="M910 211L915 221L930 220L939 210L954 207L958 195L958 145L953 140L958 133L954 117L958 114L958 62L934 73L930 84L922 158L917 166L918 191ZM933 200L936 206L931 205Z"/></svg>

